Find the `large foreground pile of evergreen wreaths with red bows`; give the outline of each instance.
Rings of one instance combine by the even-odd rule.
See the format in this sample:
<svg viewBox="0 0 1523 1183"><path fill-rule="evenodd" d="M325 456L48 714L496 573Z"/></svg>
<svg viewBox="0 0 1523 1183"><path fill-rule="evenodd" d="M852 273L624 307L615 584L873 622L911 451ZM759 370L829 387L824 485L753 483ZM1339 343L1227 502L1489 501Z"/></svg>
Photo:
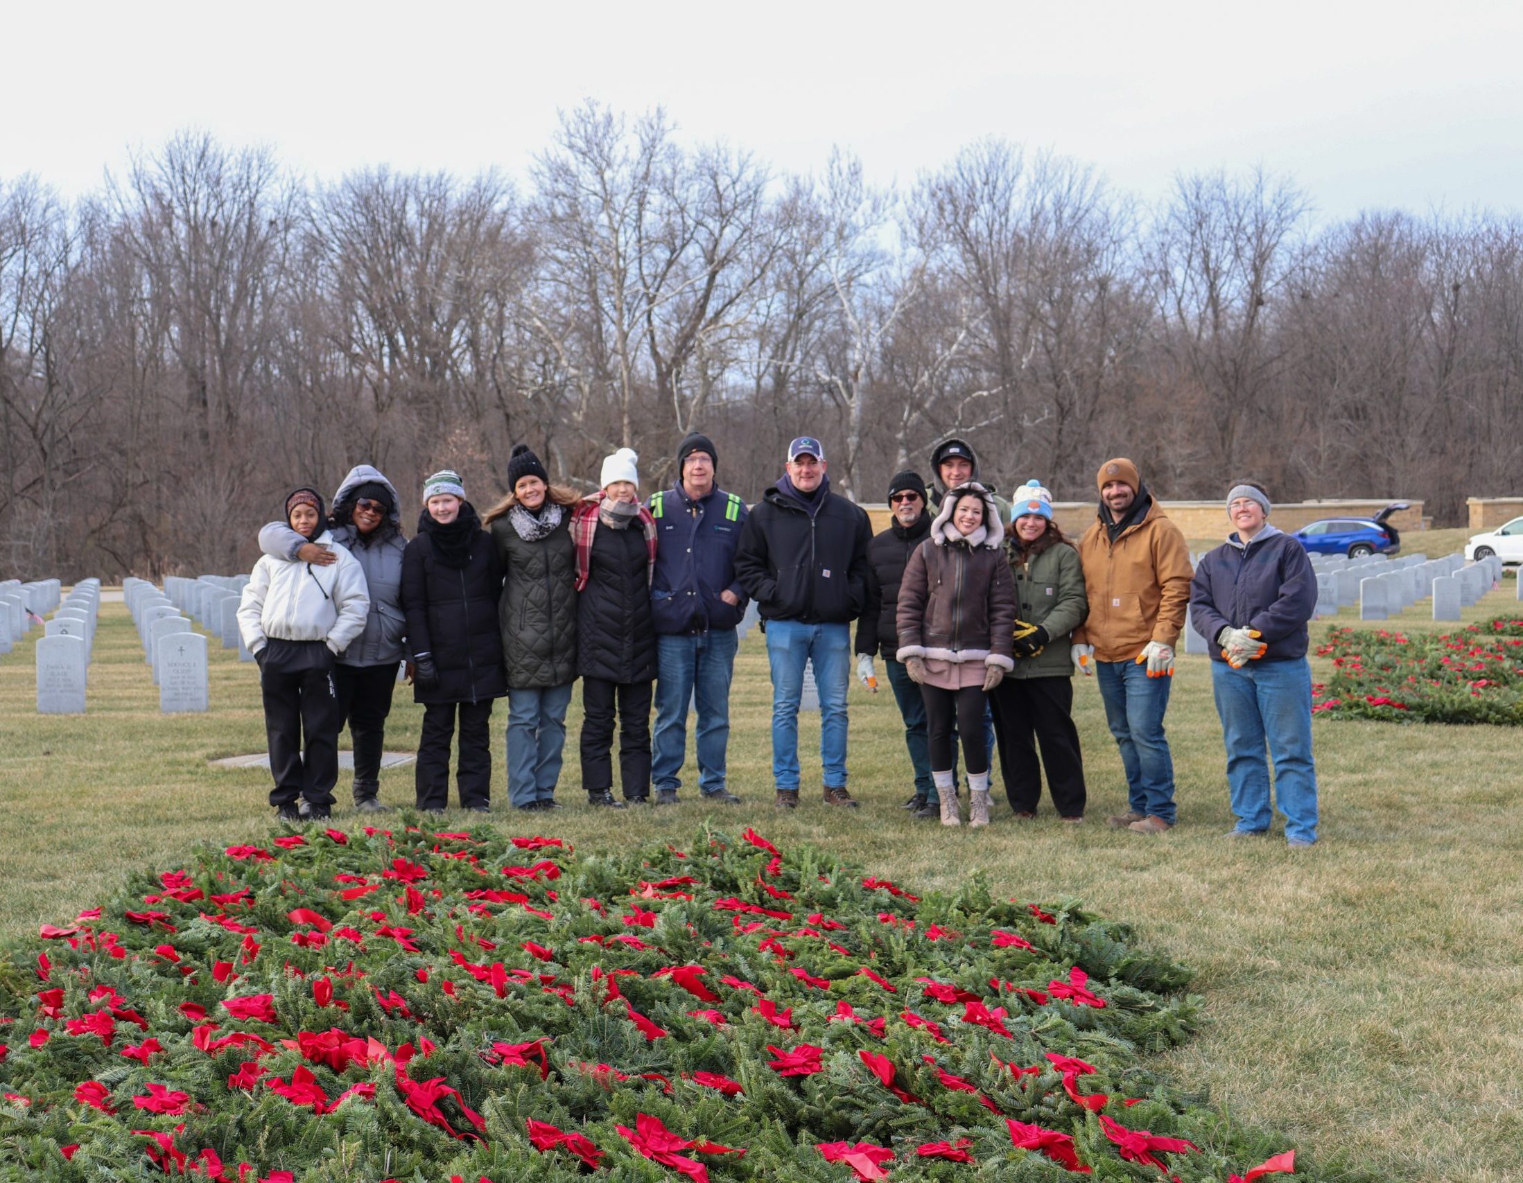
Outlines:
<svg viewBox="0 0 1523 1183"><path fill-rule="evenodd" d="M1185 968L1002 895L917 898L751 830L623 854L411 825L206 848L5 950L0 1177L1293 1169L1148 1069L1191 1029Z"/></svg>

